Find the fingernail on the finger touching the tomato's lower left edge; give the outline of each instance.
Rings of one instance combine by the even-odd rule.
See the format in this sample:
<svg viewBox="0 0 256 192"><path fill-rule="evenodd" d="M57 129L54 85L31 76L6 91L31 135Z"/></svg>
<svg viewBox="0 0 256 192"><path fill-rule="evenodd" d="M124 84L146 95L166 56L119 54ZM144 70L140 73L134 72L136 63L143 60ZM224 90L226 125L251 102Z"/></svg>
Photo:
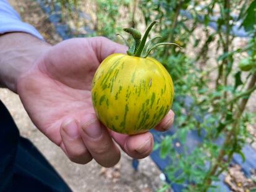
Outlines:
<svg viewBox="0 0 256 192"><path fill-rule="evenodd" d="M83 131L85 131L85 133L92 138L98 138L101 136L102 129L100 126L100 122L98 122L98 119L90 120L90 122L83 125L82 128Z"/></svg>

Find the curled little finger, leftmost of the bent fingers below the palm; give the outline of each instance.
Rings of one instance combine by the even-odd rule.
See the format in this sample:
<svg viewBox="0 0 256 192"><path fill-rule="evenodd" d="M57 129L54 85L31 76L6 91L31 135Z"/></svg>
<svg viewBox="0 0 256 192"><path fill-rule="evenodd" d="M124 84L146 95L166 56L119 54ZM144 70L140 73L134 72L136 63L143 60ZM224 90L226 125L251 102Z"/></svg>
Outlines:
<svg viewBox="0 0 256 192"><path fill-rule="evenodd" d="M61 148L70 161L77 164L87 164L92 160L90 152L79 135L78 123L75 119L65 120L61 125L60 133L63 143Z"/></svg>

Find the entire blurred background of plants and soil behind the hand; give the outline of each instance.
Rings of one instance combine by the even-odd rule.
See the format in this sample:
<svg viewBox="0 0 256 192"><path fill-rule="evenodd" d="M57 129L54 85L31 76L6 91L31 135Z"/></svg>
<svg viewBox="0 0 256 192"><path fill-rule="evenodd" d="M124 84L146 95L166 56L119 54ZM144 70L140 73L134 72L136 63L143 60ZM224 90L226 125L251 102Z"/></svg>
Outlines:
<svg viewBox="0 0 256 192"><path fill-rule="evenodd" d="M122 28L145 31L158 20L150 38L161 35L156 42L183 48L165 46L150 54L173 78L176 120L171 132L154 133L154 156L163 160L147 157L139 161L138 171L125 154L110 169L95 162L70 162L35 128L19 97L0 90L21 134L35 143L72 190L256 191L255 0L9 2L52 44L98 35L122 43L117 33L130 42Z"/></svg>

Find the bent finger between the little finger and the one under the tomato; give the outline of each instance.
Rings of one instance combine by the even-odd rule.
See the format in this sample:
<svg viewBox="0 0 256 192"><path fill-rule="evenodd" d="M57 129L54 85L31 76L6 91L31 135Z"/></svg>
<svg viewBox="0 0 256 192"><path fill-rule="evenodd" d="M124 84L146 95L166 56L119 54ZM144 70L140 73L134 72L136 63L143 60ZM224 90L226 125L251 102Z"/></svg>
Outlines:
<svg viewBox="0 0 256 192"><path fill-rule="evenodd" d="M80 121L80 135L88 151L98 164L113 167L120 159L120 151L95 114L87 114Z"/></svg>

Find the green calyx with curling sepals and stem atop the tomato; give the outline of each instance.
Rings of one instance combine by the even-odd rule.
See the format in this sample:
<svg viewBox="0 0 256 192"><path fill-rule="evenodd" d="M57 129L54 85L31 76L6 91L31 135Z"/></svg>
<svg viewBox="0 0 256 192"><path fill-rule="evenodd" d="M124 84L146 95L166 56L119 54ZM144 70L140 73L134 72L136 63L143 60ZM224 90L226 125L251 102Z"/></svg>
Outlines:
<svg viewBox="0 0 256 192"><path fill-rule="evenodd" d="M145 34L143 35L143 37L142 37L140 31L135 30L135 28L124 28L123 30L126 31L127 33L130 33L130 35L132 35L132 38L134 38L134 43L132 43L131 46L127 43L127 41L124 39L124 37L122 35L117 34L117 35L121 36L122 40L124 40L124 42L126 43L126 46L129 47L129 49L127 51L127 54L129 56L146 58L148 56L148 54L150 54L150 52L153 49L155 49L158 46L162 46L162 45L166 45L166 44L174 44L181 49L181 47L176 43L153 44L153 41L155 41L158 38L161 38L161 36L155 36L154 38L152 38L151 40L149 40L146 43L148 34L149 34L151 28L155 25L155 23L158 23L158 22L153 21L152 23L150 23L150 25L148 26L147 30L145 31Z"/></svg>

